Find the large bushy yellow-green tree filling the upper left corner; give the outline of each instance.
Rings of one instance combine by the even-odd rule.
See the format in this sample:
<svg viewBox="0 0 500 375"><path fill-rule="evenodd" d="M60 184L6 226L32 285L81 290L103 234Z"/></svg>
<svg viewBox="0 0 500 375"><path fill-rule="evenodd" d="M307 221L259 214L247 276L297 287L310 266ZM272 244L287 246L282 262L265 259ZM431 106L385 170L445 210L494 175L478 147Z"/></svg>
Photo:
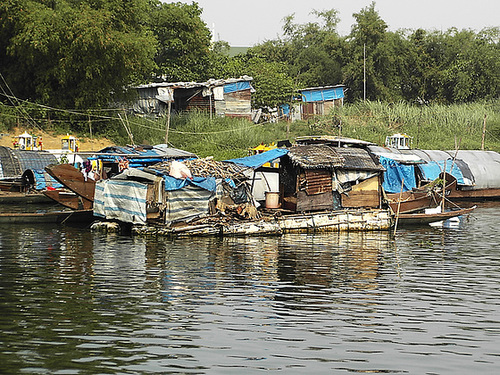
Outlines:
<svg viewBox="0 0 500 375"><path fill-rule="evenodd" d="M107 107L152 72L155 39L140 21L146 1L6 0L2 74L23 99Z"/></svg>

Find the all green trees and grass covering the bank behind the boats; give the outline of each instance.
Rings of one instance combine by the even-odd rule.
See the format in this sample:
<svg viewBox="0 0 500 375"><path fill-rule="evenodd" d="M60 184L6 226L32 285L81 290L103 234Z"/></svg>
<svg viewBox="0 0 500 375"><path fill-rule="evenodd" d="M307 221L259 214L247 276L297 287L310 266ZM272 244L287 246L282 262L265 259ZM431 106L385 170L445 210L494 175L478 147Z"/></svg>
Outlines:
<svg viewBox="0 0 500 375"><path fill-rule="evenodd" d="M335 9L312 10L315 21L288 16L281 37L233 55L227 42L211 43L201 13L196 2L1 1L0 130L40 127L123 144L131 142L130 127L135 143L163 143L166 119L127 118L116 109L131 99L129 87L249 75L254 108L336 84L347 86L346 105L291 124L176 115L169 143L224 159L287 134L337 135L335 118L342 135L379 144L403 132L414 147L478 149L486 115L486 148L500 150L499 27L392 32L372 3L353 14L347 36L337 32Z"/></svg>

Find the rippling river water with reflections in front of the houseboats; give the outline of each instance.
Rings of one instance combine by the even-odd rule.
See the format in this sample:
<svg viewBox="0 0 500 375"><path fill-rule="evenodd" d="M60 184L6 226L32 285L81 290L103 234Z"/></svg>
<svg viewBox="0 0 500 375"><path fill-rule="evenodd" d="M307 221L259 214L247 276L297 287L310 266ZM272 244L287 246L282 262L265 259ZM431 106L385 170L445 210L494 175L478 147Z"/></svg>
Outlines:
<svg viewBox="0 0 500 375"><path fill-rule="evenodd" d="M0 373L497 374L499 209L395 236L3 225Z"/></svg>

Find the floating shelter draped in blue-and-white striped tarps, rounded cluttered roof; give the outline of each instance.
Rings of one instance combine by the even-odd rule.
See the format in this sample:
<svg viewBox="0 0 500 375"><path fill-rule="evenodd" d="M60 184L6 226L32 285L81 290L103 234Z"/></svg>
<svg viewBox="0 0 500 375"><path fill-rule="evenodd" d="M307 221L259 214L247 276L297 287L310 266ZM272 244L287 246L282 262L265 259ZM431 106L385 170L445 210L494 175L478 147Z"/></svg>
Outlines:
<svg viewBox="0 0 500 375"><path fill-rule="evenodd" d="M96 183L94 213L107 220L173 227L230 207L255 218L242 167L212 159L171 161L129 168ZM253 208L252 208L253 207Z"/></svg>

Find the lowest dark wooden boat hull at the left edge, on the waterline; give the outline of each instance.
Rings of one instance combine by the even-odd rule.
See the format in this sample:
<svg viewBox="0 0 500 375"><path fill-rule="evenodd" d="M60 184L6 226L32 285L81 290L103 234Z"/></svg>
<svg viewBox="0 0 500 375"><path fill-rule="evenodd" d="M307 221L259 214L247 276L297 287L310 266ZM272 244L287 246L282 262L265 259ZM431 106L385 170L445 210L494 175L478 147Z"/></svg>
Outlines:
<svg viewBox="0 0 500 375"><path fill-rule="evenodd" d="M92 210L0 213L0 224L90 223Z"/></svg>

